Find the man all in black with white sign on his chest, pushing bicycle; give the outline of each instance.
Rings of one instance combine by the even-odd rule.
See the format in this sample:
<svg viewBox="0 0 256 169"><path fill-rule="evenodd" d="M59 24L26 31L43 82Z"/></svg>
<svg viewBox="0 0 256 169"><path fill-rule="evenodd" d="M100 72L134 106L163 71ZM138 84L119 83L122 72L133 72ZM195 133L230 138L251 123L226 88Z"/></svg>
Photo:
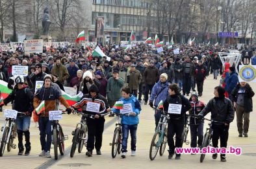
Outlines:
<svg viewBox="0 0 256 169"><path fill-rule="evenodd" d="M179 87L177 84L171 84L168 92L169 96L164 101L164 111L168 111L170 114L167 141L169 146L168 159L172 159L175 148L182 147L182 133L185 125L186 111L191 108L191 105L188 99L179 93ZM174 111L175 109L177 111ZM173 140L174 135L175 144ZM175 159L181 159L181 154L176 153Z"/></svg>

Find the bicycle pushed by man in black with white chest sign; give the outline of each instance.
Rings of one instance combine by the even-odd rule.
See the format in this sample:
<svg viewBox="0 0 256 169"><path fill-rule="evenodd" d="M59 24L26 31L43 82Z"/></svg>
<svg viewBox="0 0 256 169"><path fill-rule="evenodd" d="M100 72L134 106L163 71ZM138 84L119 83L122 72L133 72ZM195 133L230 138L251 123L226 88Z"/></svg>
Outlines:
<svg viewBox="0 0 256 169"><path fill-rule="evenodd" d="M155 159L155 157L157 156L157 152L159 151L159 148L159 155L162 156L164 154L164 150L166 148L167 143L167 124L169 119L169 114L167 112L164 112L160 109L155 110L160 111L161 117L150 144L149 159L151 160Z"/></svg>

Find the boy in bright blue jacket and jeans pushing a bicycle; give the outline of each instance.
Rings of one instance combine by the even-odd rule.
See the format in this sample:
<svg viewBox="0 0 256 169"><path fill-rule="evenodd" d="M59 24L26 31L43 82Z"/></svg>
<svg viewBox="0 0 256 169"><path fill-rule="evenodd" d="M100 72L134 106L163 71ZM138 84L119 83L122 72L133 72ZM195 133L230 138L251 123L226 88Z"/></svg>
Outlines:
<svg viewBox="0 0 256 169"><path fill-rule="evenodd" d="M127 140L129 135L129 130L131 133L131 156L136 155L136 131L138 126L138 114L140 114L141 107L140 102L138 102L137 98L131 95L131 89L129 87L125 87L122 89L122 98L120 101L123 101L123 107L132 107L129 116L122 117L122 158L126 157L127 154ZM129 108L128 108L129 110ZM120 109L112 108L114 113L120 113ZM122 113L123 109L121 109Z"/></svg>

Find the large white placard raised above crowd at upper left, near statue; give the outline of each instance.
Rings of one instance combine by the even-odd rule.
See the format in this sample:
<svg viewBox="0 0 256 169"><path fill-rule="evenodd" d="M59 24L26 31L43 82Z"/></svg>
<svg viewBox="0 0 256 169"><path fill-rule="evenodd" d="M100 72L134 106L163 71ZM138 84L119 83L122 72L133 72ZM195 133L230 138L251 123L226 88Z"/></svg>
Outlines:
<svg viewBox="0 0 256 169"><path fill-rule="evenodd" d="M43 39L25 40L24 41L25 54L42 53L43 46L44 46Z"/></svg>

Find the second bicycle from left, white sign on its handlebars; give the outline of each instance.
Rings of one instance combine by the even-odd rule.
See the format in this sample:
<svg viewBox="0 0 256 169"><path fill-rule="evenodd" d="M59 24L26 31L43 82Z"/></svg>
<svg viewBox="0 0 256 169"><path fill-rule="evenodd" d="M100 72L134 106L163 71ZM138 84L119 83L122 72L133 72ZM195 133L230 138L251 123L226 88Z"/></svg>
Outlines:
<svg viewBox="0 0 256 169"><path fill-rule="evenodd" d="M51 116L53 113L57 116ZM58 123L58 120L62 119L62 114L66 114L62 111L49 111L49 120L51 120L51 131L52 131L52 144L54 149L54 157L55 160L58 159L58 149L60 151L60 155L64 155L65 146L64 141L68 140L68 135L64 135L62 127Z"/></svg>

